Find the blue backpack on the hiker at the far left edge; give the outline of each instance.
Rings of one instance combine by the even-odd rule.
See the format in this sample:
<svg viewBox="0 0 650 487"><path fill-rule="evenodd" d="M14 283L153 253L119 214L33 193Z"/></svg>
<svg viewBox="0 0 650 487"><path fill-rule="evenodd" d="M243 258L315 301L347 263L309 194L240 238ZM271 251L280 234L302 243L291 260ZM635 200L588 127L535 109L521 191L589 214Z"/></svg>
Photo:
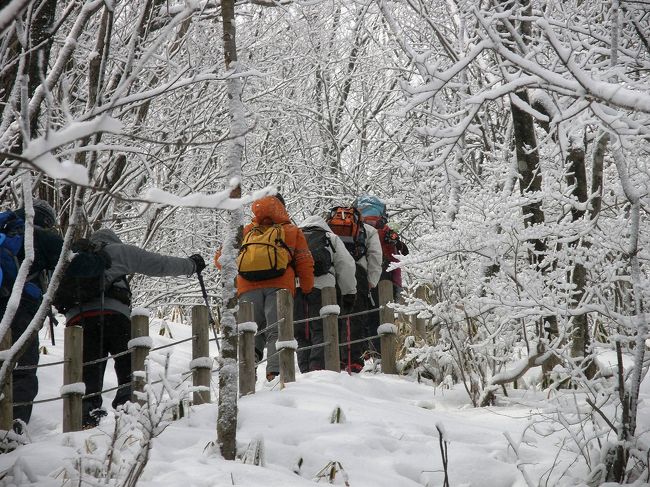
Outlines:
<svg viewBox="0 0 650 487"><path fill-rule="evenodd" d="M11 295L20 267L18 255L23 249L24 242L25 221L13 211L0 213L0 297L2 298ZM28 281L33 277L28 276ZM33 282L26 282L23 292L34 299L40 299L42 295L40 287Z"/></svg>

